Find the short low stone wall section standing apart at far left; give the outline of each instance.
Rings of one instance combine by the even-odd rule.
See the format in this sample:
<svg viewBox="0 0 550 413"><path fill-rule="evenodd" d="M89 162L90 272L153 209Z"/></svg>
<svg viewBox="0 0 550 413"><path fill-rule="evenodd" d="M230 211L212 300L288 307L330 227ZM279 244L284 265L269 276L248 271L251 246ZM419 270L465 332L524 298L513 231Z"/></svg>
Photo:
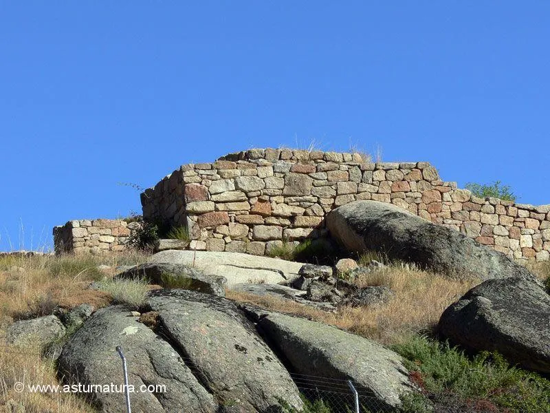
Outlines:
<svg viewBox="0 0 550 413"><path fill-rule="evenodd" d="M126 249L135 223L124 220L74 220L54 227L54 249L59 253L105 254Z"/></svg>

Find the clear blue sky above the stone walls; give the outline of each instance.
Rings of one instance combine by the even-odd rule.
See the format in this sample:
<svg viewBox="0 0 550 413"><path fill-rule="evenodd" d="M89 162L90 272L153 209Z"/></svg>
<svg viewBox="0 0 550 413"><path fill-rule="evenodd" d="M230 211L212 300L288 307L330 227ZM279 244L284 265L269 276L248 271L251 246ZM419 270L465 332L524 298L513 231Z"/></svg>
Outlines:
<svg viewBox="0 0 550 413"><path fill-rule="evenodd" d="M179 165L356 147L550 203L547 1L0 1L0 251Z"/></svg>

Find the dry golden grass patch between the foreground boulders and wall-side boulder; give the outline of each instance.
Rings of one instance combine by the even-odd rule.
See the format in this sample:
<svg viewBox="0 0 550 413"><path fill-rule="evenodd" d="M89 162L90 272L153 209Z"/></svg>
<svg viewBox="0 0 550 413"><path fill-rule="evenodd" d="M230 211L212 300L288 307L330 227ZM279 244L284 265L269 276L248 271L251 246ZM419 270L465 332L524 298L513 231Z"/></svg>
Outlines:
<svg viewBox="0 0 550 413"><path fill-rule="evenodd" d="M432 328L445 308L477 284L401 266L390 266L363 275L355 282L358 286L388 286L395 296L387 304L342 306L336 313L326 313L282 298L258 297L231 290L227 292L227 297L282 313L309 317L387 345Z"/></svg>

